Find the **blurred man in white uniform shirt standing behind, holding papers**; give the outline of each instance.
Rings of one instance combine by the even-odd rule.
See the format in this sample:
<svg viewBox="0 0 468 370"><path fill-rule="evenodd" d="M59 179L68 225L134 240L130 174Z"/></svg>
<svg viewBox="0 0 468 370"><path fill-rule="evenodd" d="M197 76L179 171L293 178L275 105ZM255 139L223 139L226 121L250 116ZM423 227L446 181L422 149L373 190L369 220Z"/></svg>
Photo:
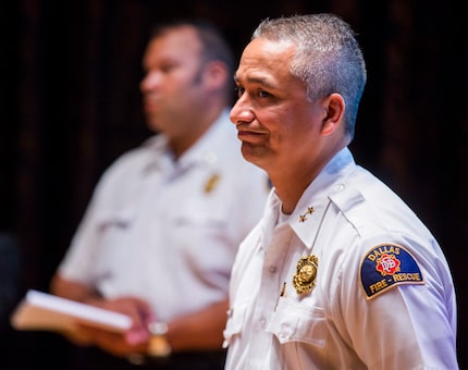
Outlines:
<svg viewBox="0 0 468 370"><path fill-rule="evenodd" d="M158 27L143 66L159 134L106 171L51 292L134 320L123 335L69 333L91 346L78 369L222 369L231 268L268 178L241 155L229 120L233 58L214 27Z"/></svg>

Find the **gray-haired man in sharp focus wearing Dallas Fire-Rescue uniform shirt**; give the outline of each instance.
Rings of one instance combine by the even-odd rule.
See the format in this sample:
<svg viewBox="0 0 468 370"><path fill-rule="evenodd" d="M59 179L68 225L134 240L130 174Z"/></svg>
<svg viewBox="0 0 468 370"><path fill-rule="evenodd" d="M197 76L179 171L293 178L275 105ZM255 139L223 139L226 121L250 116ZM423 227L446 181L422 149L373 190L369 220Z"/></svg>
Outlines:
<svg viewBox="0 0 468 370"><path fill-rule="evenodd" d="M366 78L333 14L266 20L244 49L231 120L273 188L234 263L226 370L458 367L440 246L347 148Z"/></svg>

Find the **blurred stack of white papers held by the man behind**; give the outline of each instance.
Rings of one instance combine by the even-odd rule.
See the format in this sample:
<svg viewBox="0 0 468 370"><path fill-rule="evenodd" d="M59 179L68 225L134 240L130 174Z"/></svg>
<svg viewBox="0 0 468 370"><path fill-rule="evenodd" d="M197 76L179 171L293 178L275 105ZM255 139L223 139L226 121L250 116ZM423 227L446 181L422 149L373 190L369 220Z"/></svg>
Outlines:
<svg viewBox="0 0 468 370"><path fill-rule="evenodd" d="M76 323L124 332L132 319L123 313L29 289L11 316L16 330L73 331Z"/></svg>

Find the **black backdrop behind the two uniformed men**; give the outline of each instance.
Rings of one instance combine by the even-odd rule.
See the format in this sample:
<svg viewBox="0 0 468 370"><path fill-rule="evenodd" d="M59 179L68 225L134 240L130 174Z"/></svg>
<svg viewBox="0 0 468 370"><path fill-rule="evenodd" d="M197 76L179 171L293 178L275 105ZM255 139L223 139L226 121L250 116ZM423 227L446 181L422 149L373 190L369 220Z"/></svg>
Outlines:
<svg viewBox="0 0 468 370"><path fill-rule="evenodd" d="M16 297L27 288L48 288L99 175L149 135L138 84L152 23L207 17L239 57L260 20L331 11L357 30L368 64L352 149L409 203L445 250L458 296L464 368L468 32L461 5L455 0L1 2L0 231L20 247ZM0 256L2 264L8 261ZM7 317L1 329L0 368L67 369L69 344L60 336L14 332Z"/></svg>

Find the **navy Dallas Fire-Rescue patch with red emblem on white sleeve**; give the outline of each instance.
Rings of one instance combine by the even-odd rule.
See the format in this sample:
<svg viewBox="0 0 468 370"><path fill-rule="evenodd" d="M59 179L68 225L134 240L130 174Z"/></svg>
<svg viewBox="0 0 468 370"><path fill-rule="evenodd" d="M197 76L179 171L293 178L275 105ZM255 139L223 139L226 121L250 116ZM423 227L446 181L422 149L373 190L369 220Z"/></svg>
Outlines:
<svg viewBox="0 0 468 370"><path fill-rule="evenodd" d="M381 244L366 254L360 263L360 282L368 299L392 286L424 284L416 259L396 244Z"/></svg>

